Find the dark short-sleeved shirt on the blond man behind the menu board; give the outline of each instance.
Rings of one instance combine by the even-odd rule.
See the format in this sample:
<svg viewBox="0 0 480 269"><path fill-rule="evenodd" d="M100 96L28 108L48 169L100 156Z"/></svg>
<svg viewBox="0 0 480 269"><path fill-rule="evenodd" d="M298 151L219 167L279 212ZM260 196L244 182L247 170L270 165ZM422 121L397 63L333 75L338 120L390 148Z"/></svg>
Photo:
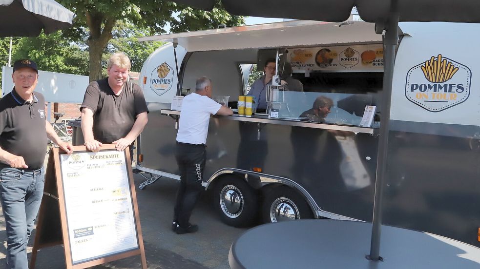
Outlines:
<svg viewBox="0 0 480 269"><path fill-rule="evenodd" d="M147 112L142 89L136 84L125 82L124 89L116 96L108 77L88 85L80 107L93 112L93 137L101 143L112 143L124 138L132 129L137 115Z"/></svg>

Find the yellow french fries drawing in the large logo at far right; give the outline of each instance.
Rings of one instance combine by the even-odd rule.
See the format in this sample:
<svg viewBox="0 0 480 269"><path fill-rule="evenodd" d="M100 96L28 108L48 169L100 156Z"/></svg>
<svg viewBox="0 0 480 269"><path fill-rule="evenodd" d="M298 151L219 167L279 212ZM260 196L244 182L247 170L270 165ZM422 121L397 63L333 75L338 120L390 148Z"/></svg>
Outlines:
<svg viewBox="0 0 480 269"><path fill-rule="evenodd" d="M425 61L421 67L425 78L432 83L443 83L455 75L459 71L451 61L443 58L438 54L437 58L433 57Z"/></svg>

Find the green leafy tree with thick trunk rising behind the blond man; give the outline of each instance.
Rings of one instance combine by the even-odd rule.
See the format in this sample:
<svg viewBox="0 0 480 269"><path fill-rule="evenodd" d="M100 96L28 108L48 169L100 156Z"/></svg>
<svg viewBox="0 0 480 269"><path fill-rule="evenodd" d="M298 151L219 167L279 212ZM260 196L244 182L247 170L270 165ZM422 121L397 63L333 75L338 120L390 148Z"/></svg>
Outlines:
<svg viewBox="0 0 480 269"><path fill-rule="evenodd" d="M218 24L238 25L243 17L226 15L217 8L212 12L191 9L166 0L59 0L77 16L74 27L65 35L74 40L86 37L89 51L90 81L102 77L102 54L113 36L118 21L130 22L137 27L148 29L150 34L165 33L167 22L173 31L216 28ZM185 10L185 11L184 11ZM177 14L178 20L173 16Z"/></svg>

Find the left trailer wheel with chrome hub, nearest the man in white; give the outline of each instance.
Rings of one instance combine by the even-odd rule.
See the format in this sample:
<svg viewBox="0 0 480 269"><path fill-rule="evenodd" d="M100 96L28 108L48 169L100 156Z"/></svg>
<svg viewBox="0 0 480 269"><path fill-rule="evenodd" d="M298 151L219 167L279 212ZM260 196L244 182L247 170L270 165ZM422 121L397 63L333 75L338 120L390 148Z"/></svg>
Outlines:
<svg viewBox="0 0 480 269"><path fill-rule="evenodd" d="M216 182L213 201L222 221L230 226L246 227L256 220L258 195L242 178L228 176Z"/></svg>

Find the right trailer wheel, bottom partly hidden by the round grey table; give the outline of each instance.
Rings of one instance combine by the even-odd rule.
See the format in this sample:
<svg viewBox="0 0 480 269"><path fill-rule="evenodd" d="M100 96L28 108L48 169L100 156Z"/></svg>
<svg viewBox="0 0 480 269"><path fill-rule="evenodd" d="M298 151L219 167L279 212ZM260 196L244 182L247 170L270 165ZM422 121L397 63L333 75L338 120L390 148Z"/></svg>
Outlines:
<svg viewBox="0 0 480 269"><path fill-rule="evenodd" d="M264 223L313 218L309 205L298 192L287 186L267 190L262 204Z"/></svg>

